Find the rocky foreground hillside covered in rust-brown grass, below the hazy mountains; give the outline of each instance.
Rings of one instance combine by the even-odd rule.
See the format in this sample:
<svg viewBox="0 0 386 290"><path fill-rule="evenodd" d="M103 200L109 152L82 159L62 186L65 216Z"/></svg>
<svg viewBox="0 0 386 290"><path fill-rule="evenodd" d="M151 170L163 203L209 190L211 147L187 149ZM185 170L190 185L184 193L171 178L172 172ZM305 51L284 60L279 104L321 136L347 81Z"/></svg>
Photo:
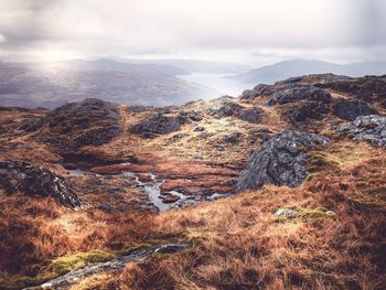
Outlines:
<svg viewBox="0 0 386 290"><path fill-rule="evenodd" d="M0 289L385 289L385 76L2 107Z"/></svg>

